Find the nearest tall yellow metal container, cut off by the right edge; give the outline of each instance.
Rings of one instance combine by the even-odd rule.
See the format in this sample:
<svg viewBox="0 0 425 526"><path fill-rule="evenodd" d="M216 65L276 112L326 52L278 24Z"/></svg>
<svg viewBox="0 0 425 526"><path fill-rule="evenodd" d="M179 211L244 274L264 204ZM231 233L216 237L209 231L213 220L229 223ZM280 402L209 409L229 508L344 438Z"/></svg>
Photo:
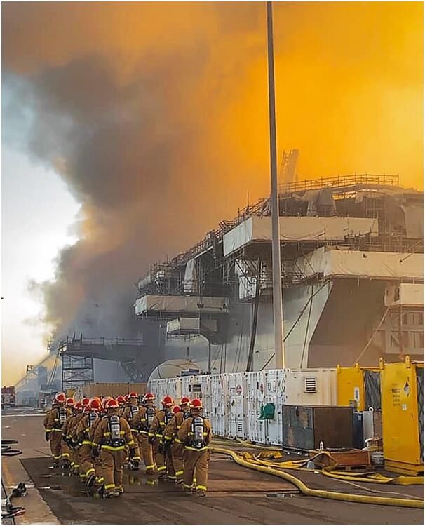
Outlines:
<svg viewBox="0 0 425 526"><path fill-rule="evenodd" d="M381 367L382 441L385 468L424 472L424 362L383 363Z"/></svg>

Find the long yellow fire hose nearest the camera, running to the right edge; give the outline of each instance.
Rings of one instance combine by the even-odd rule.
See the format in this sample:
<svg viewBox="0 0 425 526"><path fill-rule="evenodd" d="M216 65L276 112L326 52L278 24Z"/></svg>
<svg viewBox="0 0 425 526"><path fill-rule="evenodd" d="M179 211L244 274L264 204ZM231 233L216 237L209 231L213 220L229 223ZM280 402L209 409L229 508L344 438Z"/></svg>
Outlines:
<svg viewBox="0 0 425 526"><path fill-rule="evenodd" d="M268 473L269 475L275 475L280 478L284 478L285 480L288 480L288 482L295 485L302 494L306 495L307 497L320 497L322 499L332 499L337 501L348 501L348 502L358 502L361 504L379 504L381 506L401 506L403 508L424 508L424 501L420 499L399 499L399 498L393 498L393 497L374 497L371 495L359 495L359 494L351 494L351 493L342 493L342 492L333 492L328 490L315 490L311 487L306 486L302 480L299 480L299 478L291 475L290 473L286 473L285 471L281 471L280 469L277 469L276 467L272 466L264 466L262 464L259 464L258 460L255 463L254 461L249 461L243 458L241 454L237 454L236 452L232 450L228 450L224 447L211 447L211 452L213 453L221 453L226 454L227 456L231 457L236 464L239 464L240 466L244 466L245 468L254 469L256 471L262 471L262 473ZM246 457L246 453L245 453ZM261 461L263 462L263 461ZM358 480L358 478L356 478ZM370 480L367 480L367 482L370 482Z"/></svg>

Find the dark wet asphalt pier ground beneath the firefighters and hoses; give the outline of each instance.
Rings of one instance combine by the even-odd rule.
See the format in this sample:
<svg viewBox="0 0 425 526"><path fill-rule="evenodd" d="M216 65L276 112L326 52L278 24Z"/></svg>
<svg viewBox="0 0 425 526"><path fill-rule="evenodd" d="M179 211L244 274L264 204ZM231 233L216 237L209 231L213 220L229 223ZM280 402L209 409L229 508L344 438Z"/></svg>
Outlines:
<svg viewBox="0 0 425 526"><path fill-rule="evenodd" d="M29 496L22 499L22 504L19 502L27 513L16 520L18 524L423 523L423 510L304 497L285 480L237 466L217 454L212 455L208 496L204 499L184 494L168 483L146 485L142 470L126 473L126 492L121 497L106 501L89 497L77 478L62 476L60 470L51 467L42 419L43 415L31 410L9 410L2 415L3 437L19 440L22 450L20 457L3 459L6 487L21 480L29 485ZM421 487L387 489L362 483L362 489L313 473L307 474L310 480L303 476L308 485L321 489L358 493L373 490L381 496L383 490L390 490L394 497L400 497L400 493L405 497L422 495Z"/></svg>

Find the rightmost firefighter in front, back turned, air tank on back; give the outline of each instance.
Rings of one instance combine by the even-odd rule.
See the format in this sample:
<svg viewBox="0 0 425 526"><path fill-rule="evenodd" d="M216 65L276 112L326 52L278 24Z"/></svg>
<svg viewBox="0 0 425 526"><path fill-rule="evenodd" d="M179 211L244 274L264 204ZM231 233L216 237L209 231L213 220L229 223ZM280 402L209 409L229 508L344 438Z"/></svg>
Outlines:
<svg viewBox="0 0 425 526"><path fill-rule="evenodd" d="M210 461L208 445L211 437L210 422L202 416L202 402L195 398L191 401L190 416L182 423L177 438L184 443L183 488L191 492L196 476L195 489L198 497L205 497L207 493Z"/></svg>

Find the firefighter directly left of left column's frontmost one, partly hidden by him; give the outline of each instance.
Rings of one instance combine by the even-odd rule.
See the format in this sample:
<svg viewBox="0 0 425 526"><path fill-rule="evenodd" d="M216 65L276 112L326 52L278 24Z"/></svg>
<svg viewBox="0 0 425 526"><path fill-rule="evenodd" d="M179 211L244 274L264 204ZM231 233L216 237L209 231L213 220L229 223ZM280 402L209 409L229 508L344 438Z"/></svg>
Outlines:
<svg viewBox="0 0 425 526"><path fill-rule="evenodd" d="M88 488L93 486L96 478L92 448L95 429L100 420L99 412L100 400L98 398L91 398L86 412L84 412L84 416L79 421L76 429L77 439L79 440L79 443L81 443L79 448L81 471L84 474Z"/></svg>

